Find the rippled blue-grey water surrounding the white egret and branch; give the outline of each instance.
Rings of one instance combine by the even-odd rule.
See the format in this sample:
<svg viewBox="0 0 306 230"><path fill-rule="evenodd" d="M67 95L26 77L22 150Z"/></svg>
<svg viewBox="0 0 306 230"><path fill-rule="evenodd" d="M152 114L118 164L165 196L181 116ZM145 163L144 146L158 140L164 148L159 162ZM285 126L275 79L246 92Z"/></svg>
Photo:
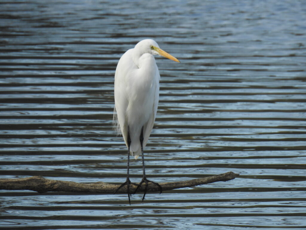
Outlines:
<svg viewBox="0 0 306 230"><path fill-rule="evenodd" d="M1 178L122 183L114 72L157 57L149 179L228 182L132 196L1 191L0 229L306 228L304 1L1 1ZM141 179L141 161L131 161Z"/></svg>

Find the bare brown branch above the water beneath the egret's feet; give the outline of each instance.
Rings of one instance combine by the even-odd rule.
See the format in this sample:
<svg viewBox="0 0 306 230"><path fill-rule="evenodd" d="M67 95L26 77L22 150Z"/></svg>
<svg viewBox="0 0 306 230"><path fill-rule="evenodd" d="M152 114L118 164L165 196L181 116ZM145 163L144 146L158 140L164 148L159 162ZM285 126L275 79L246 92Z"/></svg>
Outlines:
<svg viewBox="0 0 306 230"><path fill-rule="evenodd" d="M192 187L218 181L229 181L239 176L233 172L227 172L219 175L198 178L188 181L160 183L162 190L172 190L178 188ZM104 182L91 184L76 183L72 181L57 181L45 179L41 176L33 176L20 179L0 179L0 190L32 190L39 193L45 192L87 192L87 193L114 193L119 185ZM135 185L130 185L130 191L136 189ZM148 184L148 192L159 192L159 187L151 182ZM144 184L137 192L144 191ZM126 186L123 186L117 193L127 193Z"/></svg>

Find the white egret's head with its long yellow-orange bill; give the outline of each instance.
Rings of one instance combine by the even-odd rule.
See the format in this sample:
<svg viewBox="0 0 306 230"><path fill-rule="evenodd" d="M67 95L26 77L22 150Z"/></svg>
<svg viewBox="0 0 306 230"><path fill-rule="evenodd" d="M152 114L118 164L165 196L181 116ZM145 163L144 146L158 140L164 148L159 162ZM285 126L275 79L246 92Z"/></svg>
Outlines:
<svg viewBox="0 0 306 230"><path fill-rule="evenodd" d="M135 46L135 49L141 50L141 52L143 53L150 53L152 55L160 55L160 56L169 58L170 60L180 62L174 56L168 54L166 51L163 51L161 48L159 48L159 45L156 43L156 41L152 39L145 39L145 40L138 42Z"/></svg>

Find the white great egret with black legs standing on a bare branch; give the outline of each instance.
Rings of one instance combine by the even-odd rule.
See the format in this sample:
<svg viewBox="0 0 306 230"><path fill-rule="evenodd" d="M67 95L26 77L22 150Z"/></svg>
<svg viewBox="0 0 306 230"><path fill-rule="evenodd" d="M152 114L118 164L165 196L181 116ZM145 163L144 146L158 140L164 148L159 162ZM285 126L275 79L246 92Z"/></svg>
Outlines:
<svg viewBox="0 0 306 230"><path fill-rule="evenodd" d="M142 183L145 183L144 196L148 182L144 168L144 150L155 121L159 100L159 71L153 55L161 55L176 62L174 56L159 48L152 39L138 42L135 48L126 51L120 58L115 73L115 109L113 124L118 133L121 130L126 147L128 148L128 165L126 181L119 186L115 193L124 185L130 201L129 185L137 186L134 194ZM129 155L138 158L142 156L143 178L139 184L129 179ZM160 192L162 187L159 186ZM144 196L142 200L144 200Z"/></svg>

